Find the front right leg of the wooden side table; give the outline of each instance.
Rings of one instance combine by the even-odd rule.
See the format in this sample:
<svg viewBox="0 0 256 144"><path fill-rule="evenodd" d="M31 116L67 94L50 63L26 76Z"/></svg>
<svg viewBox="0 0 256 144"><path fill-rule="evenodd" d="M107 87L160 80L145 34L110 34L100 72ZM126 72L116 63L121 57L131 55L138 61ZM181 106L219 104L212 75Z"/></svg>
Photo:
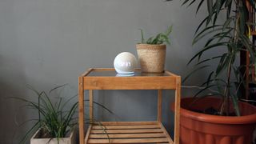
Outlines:
<svg viewBox="0 0 256 144"><path fill-rule="evenodd" d="M177 78L177 86L175 90L175 111L174 111L174 144L179 143L179 118L181 103L181 77Z"/></svg>

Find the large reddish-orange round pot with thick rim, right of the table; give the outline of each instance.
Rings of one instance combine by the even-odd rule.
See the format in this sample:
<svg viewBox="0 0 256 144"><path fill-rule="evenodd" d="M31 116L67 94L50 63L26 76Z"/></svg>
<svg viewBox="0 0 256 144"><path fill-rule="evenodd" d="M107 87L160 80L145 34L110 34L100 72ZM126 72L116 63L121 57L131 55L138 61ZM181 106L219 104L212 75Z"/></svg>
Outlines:
<svg viewBox="0 0 256 144"><path fill-rule="evenodd" d="M181 144L251 144L256 124L256 107L239 102L242 116L217 116L191 110L218 108L219 98L182 98L180 118ZM190 108L189 108L190 106ZM174 103L171 106L174 110ZM189 110L190 109L190 110Z"/></svg>

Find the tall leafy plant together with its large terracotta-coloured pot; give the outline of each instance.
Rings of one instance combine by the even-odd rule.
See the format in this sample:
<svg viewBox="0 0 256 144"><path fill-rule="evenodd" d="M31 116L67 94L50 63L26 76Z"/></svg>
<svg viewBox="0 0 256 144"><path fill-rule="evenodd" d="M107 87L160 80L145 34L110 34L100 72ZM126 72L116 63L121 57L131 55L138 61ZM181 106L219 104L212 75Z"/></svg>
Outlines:
<svg viewBox="0 0 256 144"><path fill-rule="evenodd" d="M256 108L239 101L242 74L237 64L241 51L248 51L250 63L255 62L254 46L247 36L246 1L186 0L183 4L198 3L198 12L204 2L208 13L199 24L193 43L200 40L206 43L190 59L189 64L195 62L196 67L188 77L198 70L212 69L215 66L212 63L217 62L217 66L202 82L194 98L182 98L181 143L250 144ZM254 7L254 1L248 0L248 3ZM222 21L219 16L226 19ZM209 58L213 50L218 51L218 55Z"/></svg>

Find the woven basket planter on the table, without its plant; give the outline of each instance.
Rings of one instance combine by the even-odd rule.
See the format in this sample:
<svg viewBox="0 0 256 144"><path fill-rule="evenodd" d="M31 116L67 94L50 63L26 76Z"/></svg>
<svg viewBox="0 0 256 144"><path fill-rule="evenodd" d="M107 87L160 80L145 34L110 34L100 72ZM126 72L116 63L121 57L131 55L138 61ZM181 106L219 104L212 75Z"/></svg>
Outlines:
<svg viewBox="0 0 256 144"><path fill-rule="evenodd" d="M136 45L138 60L144 73L162 73L166 62L166 45Z"/></svg>

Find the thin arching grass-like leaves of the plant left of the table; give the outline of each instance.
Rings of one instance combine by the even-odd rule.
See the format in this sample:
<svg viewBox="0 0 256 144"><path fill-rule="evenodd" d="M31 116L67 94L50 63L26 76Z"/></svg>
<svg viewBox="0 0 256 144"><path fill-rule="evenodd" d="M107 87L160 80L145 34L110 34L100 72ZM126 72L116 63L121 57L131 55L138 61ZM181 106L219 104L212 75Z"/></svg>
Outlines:
<svg viewBox="0 0 256 144"><path fill-rule="evenodd" d="M40 135L41 138L50 138L50 140L52 138L57 138L58 142L60 138L65 138L71 130L74 130L74 126L78 124L78 118L75 117L78 108L78 102L74 102L68 110L66 109L66 107L73 98L76 98L78 96L78 94L75 94L66 101L64 101L64 98L60 97L59 95L57 96L57 102L52 102L52 98L50 98L54 91L60 90L65 86L66 84L62 86L56 86L48 93L46 93L45 91L35 90L32 86L28 86L28 88L30 90L33 90L34 94L36 94L37 102L30 101L26 98L14 97L14 99L25 102L28 108L32 108L33 110L36 110L38 112L38 118L26 121L34 121L35 123L30 128L30 130L26 132L26 134L23 136L19 143L25 143L28 138L30 138L30 136L39 129L42 130L42 133ZM102 106L98 102L94 103L113 114L105 106ZM91 119L88 119L87 121L87 123L95 122L95 120ZM22 124L24 124L24 122ZM99 123L99 125L101 124ZM104 126L102 126L102 129L104 130Z"/></svg>

